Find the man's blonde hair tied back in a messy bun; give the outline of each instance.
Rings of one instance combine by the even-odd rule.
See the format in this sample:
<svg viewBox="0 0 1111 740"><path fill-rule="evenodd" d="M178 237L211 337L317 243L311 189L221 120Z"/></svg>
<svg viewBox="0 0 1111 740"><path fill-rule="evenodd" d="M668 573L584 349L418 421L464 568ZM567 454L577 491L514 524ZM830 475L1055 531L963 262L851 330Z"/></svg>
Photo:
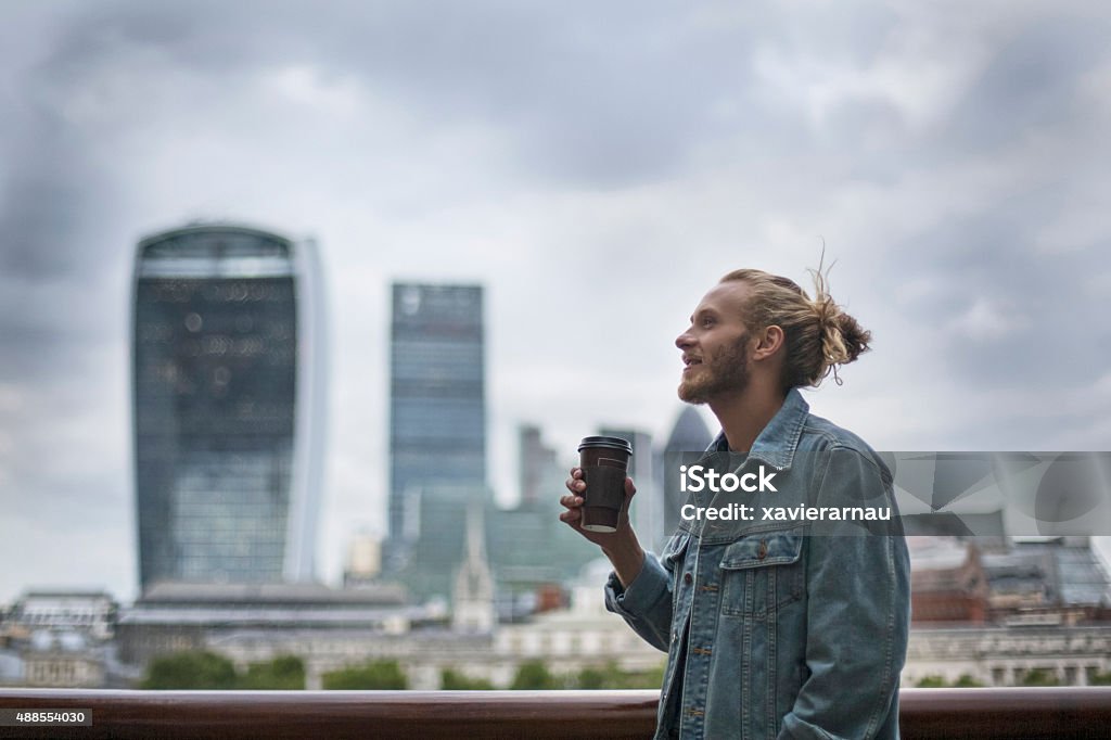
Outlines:
<svg viewBox="0 0 1111 740"><path fill-rule="evenodd" d="M811 300L793 280L763 270L733 270L721 282L741 281L750 291L744 306L744 322L759 331L777 326L783 330L782 386L821 384L830 372L838 386L837 370L869 350L872 332L845 313L829 294L829 270L821 264L809 271L814 280Z"/></svg>

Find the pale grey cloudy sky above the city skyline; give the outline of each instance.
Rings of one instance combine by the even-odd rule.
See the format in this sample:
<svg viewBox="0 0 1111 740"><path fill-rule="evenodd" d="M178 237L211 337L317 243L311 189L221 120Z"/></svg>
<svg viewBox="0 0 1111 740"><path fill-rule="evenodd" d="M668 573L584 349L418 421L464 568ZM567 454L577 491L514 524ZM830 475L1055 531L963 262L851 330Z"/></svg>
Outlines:
<svg viewBox="0 0 1111 740"><path fill-rule="evenodd" d="M702 293L823 242L875 342L818 413L1111 449L1109 32L1098 0L3 0L0 602L133 596L130 270L194 219L319 242L329 579L383 530L397 279L487 288L503 500L518 423L663 434Z"/></svg>

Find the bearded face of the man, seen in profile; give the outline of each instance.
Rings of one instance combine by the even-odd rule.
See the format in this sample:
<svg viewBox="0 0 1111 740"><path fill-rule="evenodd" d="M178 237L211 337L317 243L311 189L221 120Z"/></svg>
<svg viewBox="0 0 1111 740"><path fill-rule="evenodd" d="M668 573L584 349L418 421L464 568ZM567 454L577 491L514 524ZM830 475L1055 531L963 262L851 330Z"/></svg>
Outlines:
<svg viewBox="0 0 1111 740"><path fill-rule="evenodd" d="M691 316L691 326L675 339L683 351L679 398L709 403L740 394L749 384L749 331L742 319L748 286L723 282L705 294Z"/></svg>

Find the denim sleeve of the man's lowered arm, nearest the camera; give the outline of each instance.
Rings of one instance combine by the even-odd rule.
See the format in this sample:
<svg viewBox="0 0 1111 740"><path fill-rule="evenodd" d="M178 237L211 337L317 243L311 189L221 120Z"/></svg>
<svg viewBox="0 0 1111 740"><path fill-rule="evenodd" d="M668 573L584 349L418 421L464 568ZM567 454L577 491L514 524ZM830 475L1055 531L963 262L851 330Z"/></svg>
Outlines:
<svg viewBox="0 0 1111 740"><path fill-rule="evenodd" d="M840 522L808 538L809 677L779 738L898 737L910 559L890 473L874 457L831 451L819 506L890 507L889 522Z"/></svg>

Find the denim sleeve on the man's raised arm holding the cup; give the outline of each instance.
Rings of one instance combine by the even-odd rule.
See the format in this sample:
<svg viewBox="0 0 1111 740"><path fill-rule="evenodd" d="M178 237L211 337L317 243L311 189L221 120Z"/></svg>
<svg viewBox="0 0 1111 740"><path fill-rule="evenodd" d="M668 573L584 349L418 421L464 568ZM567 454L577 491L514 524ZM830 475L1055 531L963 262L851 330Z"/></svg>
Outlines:
<svg viewBox="0 0 1111 740"><path fill-rule="evenodd" d="M621 587L617 573L611 572L605 582L605 608L624 619L644 641L664 652L671 641L675 562L682 561L689 537L672 537L661 558L645 552L644 564L628 588Z"/></svg>

